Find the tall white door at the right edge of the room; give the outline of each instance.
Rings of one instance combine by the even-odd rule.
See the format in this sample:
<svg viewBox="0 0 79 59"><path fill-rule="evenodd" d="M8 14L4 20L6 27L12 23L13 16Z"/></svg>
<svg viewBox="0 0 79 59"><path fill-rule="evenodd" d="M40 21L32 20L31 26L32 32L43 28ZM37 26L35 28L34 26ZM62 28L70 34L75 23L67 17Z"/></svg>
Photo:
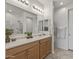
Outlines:
<svg viewBox="0 0 79 59"><path fill-rule="evenodd" d="M73 9L69 9L69 49L73 50Z"/></svg>

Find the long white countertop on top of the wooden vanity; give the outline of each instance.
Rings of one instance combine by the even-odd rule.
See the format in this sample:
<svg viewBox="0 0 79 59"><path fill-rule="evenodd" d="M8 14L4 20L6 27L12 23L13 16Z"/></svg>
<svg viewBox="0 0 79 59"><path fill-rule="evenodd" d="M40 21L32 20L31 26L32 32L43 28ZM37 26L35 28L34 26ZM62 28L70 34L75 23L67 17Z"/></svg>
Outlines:
<svg viewBox="0 0 79 59"><path fill-rule="evenodd" d="M27 38L17 39L14 42L6 43L6 49L14 48L14 47L17 47L17 46L20 46L23 44L27 44L27 43L31 43L31 42L34 42L37 40L41 40L41 39L46 38L46 37L50 37L50 35L36 36L36 37L30 38L30 39L27 39Z"/></svg>

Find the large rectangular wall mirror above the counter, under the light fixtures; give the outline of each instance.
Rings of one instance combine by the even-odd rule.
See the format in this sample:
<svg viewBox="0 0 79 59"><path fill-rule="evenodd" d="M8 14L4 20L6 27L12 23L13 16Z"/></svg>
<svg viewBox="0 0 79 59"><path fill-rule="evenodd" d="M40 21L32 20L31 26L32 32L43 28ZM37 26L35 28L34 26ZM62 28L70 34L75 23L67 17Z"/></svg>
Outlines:
<svg viewBox="0 0 79 59"><path fill-rule="evenodd" d="M5 24L6 29L13 30L13 34L36 33L37 15L6 3Z"/></svg>

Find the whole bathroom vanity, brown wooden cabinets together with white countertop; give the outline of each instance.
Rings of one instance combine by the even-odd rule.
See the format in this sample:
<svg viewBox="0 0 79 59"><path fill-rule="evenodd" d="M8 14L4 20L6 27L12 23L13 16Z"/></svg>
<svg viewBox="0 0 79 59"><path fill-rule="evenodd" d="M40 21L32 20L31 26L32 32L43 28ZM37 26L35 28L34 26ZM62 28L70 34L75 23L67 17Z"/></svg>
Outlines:
<svg viewBox="0 0 79 59"><path fill-rule="evenodd" d="M44 59L51 53L51 42L48 35L6 43L6 59Z"/></svg>

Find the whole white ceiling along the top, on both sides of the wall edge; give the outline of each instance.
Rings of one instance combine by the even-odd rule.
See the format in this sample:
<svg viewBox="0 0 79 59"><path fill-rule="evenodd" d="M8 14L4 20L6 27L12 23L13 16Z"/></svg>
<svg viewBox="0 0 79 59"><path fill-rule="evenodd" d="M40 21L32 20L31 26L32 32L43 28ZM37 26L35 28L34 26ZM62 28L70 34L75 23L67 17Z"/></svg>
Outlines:
<svg viewBox="0 0 79 59"><path fill-rule="evenodd" d="M58 8L61 7L60 3L63 2L63 6L73 3L73 0L38 0L40 3L42 3L43 5L48 5L50 3L50 1L54 2L54 7Z"/></svg>

